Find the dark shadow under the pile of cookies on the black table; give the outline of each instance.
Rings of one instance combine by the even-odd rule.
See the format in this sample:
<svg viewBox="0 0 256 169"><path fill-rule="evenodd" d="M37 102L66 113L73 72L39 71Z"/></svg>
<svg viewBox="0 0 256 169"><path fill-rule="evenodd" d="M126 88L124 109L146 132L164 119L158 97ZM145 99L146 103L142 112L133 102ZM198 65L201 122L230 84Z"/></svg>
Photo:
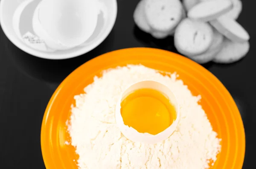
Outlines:
<svg viewBox="0 0 256 169"><path fill-rule="evenodd" d="M175 48L173 36L169 36L164 39L156 39L152 37L150 34L141 31L140 28L138 28L138 26L134 26L134 36L138 41L140 41L147 47L163 49L180 54ZM204 68L206 69L209 69L212 66L212 64L212 62L209 62L206 64L202 64L202 66L204 66Z"/></svg>

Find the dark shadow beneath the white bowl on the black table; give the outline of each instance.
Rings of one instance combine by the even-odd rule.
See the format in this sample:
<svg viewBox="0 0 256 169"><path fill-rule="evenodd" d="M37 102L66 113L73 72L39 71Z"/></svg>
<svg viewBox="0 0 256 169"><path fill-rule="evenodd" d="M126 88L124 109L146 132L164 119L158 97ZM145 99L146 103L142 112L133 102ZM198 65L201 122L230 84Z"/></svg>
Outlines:
<svg viewBox="0 0 256 169"><path fill-rule="evenodd" d="M74 57L65 60L47 60L32 56L18 49L9 40L6 43L6 54L15 65L15 67L23 72L26 76L41 80L55 90L58 85L67 77L73 70L87 62L88 60L97 57L108 51L113 42L113 33L109 34L96 49L83 54L79 57Z"/></svg>

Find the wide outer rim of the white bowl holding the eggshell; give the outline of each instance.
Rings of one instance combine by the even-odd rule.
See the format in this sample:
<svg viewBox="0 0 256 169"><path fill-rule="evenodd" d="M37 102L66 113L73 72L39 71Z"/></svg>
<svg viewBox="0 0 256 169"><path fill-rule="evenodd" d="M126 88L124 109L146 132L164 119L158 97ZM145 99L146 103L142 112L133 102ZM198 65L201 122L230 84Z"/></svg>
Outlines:
<svg viewBox="0 0 256 169"><path fill-rule="evenodd" d="M68 59L72 57L77 57L79 55L85 54L92 49L99 46L103 40L106 39L108 34L113 29L114 23L116 21L117 15L117 3L116 0L99 0L104 6L104 13L99 14L98 23L93 35L83 44L72 49L67 49L64 51L40 51L27 45L22 38L17 35L17 30L15 31L13 26L13 16L16 9L20 4L26 1L38 1L41 0L0 0L0 25L3 32L9 38L9 40L15 44L18 48L32 54L36 57L41 57L45 59ZM104 17L103 17L104 15ZM32 17L31 17L32 18ZM32 19L31 19L32 23Z"/></svg>

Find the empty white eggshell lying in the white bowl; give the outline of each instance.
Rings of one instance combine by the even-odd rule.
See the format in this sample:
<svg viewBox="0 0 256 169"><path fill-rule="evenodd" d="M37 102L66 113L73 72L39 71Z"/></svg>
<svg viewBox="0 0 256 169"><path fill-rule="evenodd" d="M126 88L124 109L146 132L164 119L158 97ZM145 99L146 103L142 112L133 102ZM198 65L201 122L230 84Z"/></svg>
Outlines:
<svg viewBox="0 0 256 169"><path fill-rule="evenodd" d="M97 4L96 0L43 0L38 17L53 40L75 47L93 34L99 12Z"/></svg>

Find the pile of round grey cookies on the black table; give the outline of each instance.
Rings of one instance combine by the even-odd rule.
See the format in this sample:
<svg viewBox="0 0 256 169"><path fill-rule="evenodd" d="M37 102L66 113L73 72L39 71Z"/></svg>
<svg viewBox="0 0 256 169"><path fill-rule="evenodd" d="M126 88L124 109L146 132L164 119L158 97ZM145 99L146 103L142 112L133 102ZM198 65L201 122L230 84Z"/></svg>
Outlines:
<svg viewBox="0 0 256 169"><path fill-rule="evenodd" d="M250 49L241 11L241 0L140 0L134 21L157 39L174 36L177 51L198 63L233 63Z"/></svg>

